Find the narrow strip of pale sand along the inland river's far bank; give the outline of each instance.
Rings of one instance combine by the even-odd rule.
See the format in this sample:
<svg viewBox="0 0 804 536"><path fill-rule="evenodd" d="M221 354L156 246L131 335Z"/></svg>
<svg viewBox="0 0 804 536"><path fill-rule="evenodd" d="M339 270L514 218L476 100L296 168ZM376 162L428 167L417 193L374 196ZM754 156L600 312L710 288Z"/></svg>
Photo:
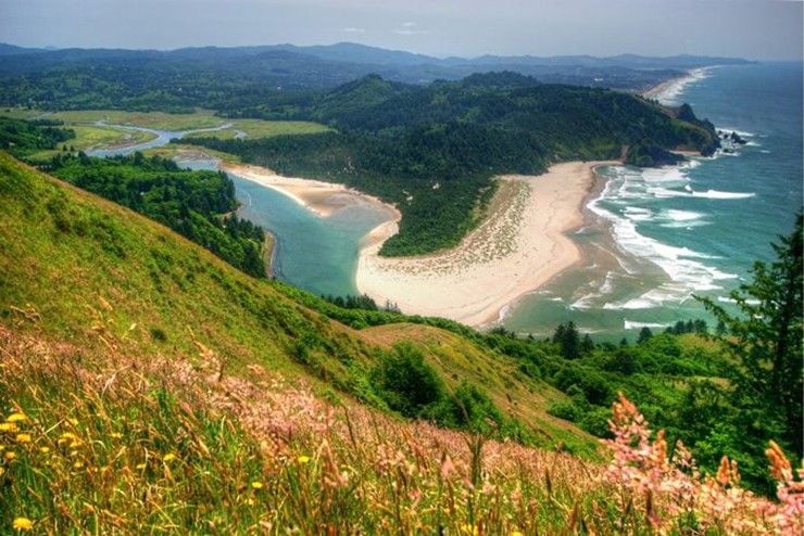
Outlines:
<svg viewBox="0 0 804 536"><path fill-rule="evenodd" d="M400 218L399 212L393 206L343 184L282 177L264 167L229 162L222 162L219 169L281 192L323 218L360 201L381 205L389 212L389 218L394 220Z"/></svg>

